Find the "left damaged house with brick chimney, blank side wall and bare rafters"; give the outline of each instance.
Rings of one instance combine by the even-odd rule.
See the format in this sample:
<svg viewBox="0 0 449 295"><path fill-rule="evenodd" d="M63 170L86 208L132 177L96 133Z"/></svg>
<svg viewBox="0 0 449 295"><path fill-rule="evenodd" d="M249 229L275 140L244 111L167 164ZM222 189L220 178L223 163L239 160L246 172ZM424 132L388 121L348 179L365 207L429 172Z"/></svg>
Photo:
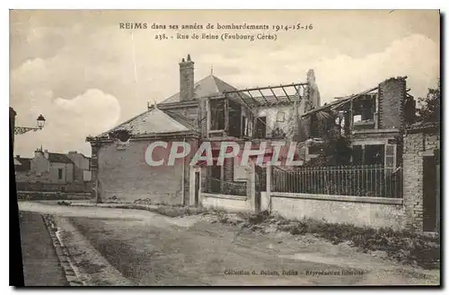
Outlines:
<svg viewBox="0 0 449 295"><path fill-rule="evenodd" d="M157 141L169 147L174 142L190 143L193 154L205 141L243 144L284 140L295 101L305 97L308 85L239 91L212 73L195 82L190 56L181 60L179 71L178 93L103 134L87 138L92 145L92 180L102 201L198 204L193 196L198 184L205 190L245 194L245 168L234 159L226 159L223 166L198 164L192 168L188 156L180 165L150 167L145 150Z"/></svg>

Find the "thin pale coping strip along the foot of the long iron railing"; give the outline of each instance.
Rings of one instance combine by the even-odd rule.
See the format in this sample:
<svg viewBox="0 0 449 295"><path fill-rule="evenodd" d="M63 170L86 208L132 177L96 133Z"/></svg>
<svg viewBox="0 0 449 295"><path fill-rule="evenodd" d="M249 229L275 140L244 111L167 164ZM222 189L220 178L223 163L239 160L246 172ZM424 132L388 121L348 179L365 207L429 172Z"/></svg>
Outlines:
<svg viewBox="0 0 449 295"><path fill-rule="evenodd" d="M271 197L273 196L297 198L297 199L313 199L322 201L339 201L339 202L371 203L371 204L402 204L403 202L403 199L401 198L355 196L355 195L312 195L312 194L271 192Z"/></svg>

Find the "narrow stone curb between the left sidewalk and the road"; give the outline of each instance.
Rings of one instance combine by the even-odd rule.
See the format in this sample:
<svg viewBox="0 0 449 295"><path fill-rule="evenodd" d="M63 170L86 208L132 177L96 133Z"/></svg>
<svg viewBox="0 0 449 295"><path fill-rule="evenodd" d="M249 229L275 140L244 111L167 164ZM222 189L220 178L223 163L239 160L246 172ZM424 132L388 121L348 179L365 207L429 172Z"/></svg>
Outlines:
<svg viewBox="0 0 449 295"><path fill-rule="evenodd" d="M73 266L73 262L70 259L70 253L57 235L57 225L52 220L51 215L42 215L42 219L47 227L48 234L51 241L53 242L53 246L55 247L59 263L64 269L66 280L69 286L84 286L84 283L79 280L78 275L75 273L75 267Z"/></svg>

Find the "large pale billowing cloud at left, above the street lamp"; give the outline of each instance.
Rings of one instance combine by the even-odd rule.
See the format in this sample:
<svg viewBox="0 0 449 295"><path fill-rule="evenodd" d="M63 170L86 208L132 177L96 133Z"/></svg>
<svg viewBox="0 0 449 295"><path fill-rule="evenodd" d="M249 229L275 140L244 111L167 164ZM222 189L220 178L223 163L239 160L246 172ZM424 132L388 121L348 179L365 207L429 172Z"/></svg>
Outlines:
<svg viewBox="0 0 449 295"><path fill-rule="evenodd" d="M55 98L48 89L48 68L43 60L25 62L12 74L12 106L17 126L36 126L42 114L46 126L36 133L16 135L16 154L32 156L42 145L52 152L91 154L88 134L100 134L119 123L119 100L99 89L88 89L70 99Z"/></svg>

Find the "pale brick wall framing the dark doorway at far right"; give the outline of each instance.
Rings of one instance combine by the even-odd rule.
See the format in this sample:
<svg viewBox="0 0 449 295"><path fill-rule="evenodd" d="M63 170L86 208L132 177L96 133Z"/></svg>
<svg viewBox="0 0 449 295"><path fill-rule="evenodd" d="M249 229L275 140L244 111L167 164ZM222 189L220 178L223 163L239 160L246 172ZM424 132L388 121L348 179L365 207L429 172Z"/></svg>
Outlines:
<svg viewBox="0 0 449 295"><path fill-rule="evenodd" d="M413 133L404 136L403 198L409 228L423 230L423 154L439 149L438 134Z"/></svg>

